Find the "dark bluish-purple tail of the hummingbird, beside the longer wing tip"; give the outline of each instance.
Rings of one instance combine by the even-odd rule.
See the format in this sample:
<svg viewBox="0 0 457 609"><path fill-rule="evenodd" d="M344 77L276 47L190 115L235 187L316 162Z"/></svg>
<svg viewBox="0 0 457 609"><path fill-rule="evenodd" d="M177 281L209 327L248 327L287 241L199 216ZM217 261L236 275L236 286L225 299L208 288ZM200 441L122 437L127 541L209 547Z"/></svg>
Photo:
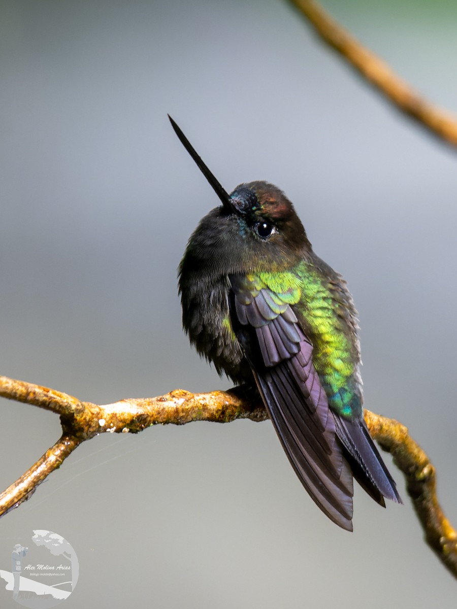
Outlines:
<svg viewBox="0 0 457 609"><path fill-rule="evenodd" d="M336 434L347 451L356 481L367 493L384 504L384 497L403 503L397 485L373 442L364 420L349 421L334 414Z"/></svg>

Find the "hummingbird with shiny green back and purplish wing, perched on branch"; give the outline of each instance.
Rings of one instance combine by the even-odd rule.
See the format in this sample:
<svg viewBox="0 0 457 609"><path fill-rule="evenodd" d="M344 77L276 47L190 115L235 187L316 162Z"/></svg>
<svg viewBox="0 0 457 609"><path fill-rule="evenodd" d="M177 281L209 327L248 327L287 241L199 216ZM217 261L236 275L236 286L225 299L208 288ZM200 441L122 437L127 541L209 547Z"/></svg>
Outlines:
<svg viewBox="0 0 457 609"><path fill-rule="evenodd" d="M352 531L354 478L383 507L402 499L364 421L349 289L280 189L252 181L228 194L168 118L222 203L180 262L183 328L219 375L257 387L303 487Z"/></svg>

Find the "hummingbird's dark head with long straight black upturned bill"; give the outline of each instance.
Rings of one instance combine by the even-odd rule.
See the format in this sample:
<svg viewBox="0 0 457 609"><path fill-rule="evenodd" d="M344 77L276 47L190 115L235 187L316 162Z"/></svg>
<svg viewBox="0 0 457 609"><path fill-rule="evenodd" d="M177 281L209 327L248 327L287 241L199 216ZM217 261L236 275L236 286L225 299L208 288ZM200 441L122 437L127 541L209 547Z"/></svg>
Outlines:
<svg viewBox="0 0 457 609"><path fill-rule="evenodd" d="M186 255L213 270L278 270L311 252L294 206L276 186L264 181L240 184L228 194L197 155L178 125L175 133L199 166L222 206L212 209L191 236ZM217 267L217 269L216 269Z"/></svg>

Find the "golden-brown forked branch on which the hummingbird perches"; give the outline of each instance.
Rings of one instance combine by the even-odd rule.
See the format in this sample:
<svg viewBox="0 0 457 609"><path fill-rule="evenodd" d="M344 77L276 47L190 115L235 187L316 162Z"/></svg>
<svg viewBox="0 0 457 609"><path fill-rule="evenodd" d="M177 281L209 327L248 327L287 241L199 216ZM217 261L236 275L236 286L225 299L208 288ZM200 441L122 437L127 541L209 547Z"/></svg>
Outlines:
<svg viewBox="0 0 457 609"><path fill-rule="evenodd" d="M229 423L239 418L252 421L268 418L263 405L252 404L243 396L243 390L238 388L211 393L190 393L177 389L156 398L121 400L98 406L80 402L66 393L0 376L0 396L52 410L60 415L63 431L58 442L1 493L0 516L28 499L38 484L62 465L80 443L97 434L137 433L158 423ZM395 464L405 475L406 489L428 545L457 577L457 533L445 518L436 498L433 465L402 424L369 410L365 410L365 420L372 437L392 454Z"/></svg>

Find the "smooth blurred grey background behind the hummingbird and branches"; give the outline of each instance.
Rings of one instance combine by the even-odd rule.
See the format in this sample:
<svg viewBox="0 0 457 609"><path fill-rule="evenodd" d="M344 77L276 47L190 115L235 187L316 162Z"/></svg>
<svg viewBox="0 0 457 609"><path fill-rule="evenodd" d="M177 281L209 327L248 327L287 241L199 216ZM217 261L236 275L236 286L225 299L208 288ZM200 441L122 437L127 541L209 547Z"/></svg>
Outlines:
<svg viewBox="0 0 457 609"><path fill-rule="evenodd" d="M457 4L325 0L417 90L457 108ZM1 1L0 373L110 403L230 387L182 333L176 268L227 190L266 179L360 311L366 406L409 426L457 524L457 174L287 2ZM1 401L0 486L58 417ZM105 435L0 521L0 569L63 535L65 607L445 607L455 580L405 506L359 488L355 531L311 502L271 424ZM0 606L16 607L0 582ZM452 595L452 596L451 596Z"/></svg>

